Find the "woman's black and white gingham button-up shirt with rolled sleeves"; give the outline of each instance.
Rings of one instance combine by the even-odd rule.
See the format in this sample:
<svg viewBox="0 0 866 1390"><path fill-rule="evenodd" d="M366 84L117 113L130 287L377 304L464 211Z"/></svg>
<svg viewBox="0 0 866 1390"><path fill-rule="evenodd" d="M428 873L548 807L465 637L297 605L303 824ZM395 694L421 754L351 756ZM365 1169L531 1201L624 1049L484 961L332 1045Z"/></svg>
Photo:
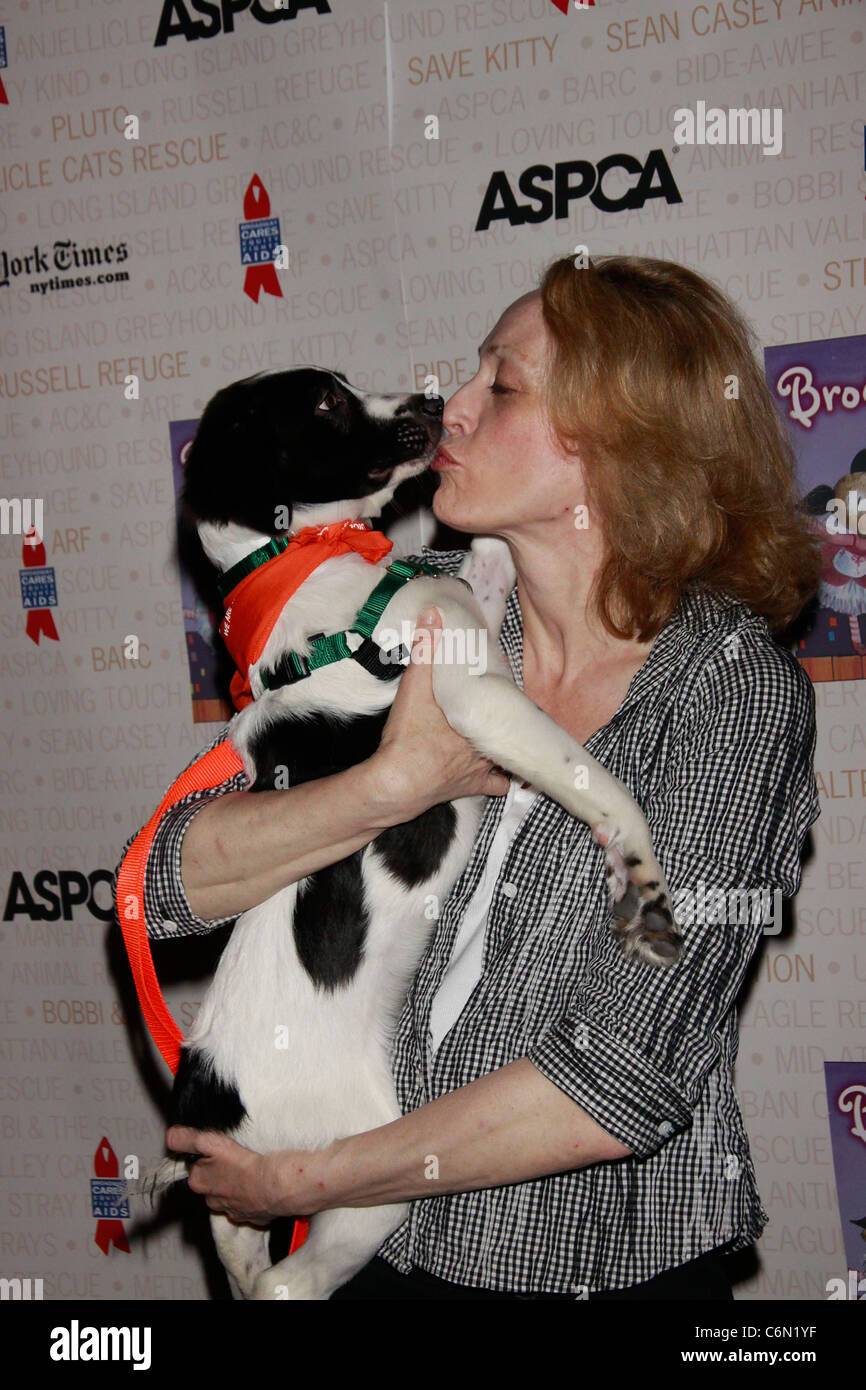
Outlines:
<svg viewBox="0 0 866 1390"><path fill-rule="evenodd" d="M424 548L423 557L456 573L464 552ZM516 588L500 645L523 685ZM815 695L794 656L742 603L701 589L681 598L587 749L641 803L676 898L701 883L792 897L819 815L815 741ZM218 924L189 910L181 842L211 795L245 785L240 773L163 819L145 891L154 937ZM756 912L731 910L727 926L694 919L671 969L630 963L610 934L601 848L538 795L502 865L481 979L436 1052L428 1048L432 998L500 816L502 798L488 798L403 1008L393 1045L402 1109L528 1056L632 1154L414 1201L379 1254L455 1283L577 1295L644 1282L720 1244L748 1245L769 1220L733 1080L734 999L760 941Z"/></svg>

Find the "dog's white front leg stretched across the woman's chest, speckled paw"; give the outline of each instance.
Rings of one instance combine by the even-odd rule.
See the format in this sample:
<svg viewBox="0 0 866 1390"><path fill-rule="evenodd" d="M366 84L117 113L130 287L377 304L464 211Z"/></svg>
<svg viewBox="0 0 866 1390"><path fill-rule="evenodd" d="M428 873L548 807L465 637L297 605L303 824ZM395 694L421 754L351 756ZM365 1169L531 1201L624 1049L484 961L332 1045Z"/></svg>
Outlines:
<svg viewBox="0 0 866 1390"><path fill-rule="evenodd" d="M470 671L460 659L468 641L446 641L449 632L477 628L470 603L450 595L436 599L445 631L432 680L445 717L485 758L589 824L605 845L617 898L613 930L648 965L671 965L681 934L639 806L623 783L514 685L493 642L484 671Z"/></svg>

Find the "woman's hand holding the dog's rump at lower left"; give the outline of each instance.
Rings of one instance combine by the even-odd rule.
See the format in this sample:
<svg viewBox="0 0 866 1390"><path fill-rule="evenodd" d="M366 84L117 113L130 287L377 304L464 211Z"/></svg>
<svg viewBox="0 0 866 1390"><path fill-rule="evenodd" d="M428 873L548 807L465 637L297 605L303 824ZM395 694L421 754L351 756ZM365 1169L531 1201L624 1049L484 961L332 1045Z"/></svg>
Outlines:
<svg viewBox="0 0 866 1390"><path fill-rule="evenodd" d="M202 1193L211 1212L234 1222L268 1226L277 1216L310 1216L317 1209L314 1179L307 1176L314 1152L254 1154L227 1134L183 1125L172 1125L165 1144L175 1154L202 1155L189 1170L189 1186ZM289 1182L289 1175L297 1182Z"/></svg>

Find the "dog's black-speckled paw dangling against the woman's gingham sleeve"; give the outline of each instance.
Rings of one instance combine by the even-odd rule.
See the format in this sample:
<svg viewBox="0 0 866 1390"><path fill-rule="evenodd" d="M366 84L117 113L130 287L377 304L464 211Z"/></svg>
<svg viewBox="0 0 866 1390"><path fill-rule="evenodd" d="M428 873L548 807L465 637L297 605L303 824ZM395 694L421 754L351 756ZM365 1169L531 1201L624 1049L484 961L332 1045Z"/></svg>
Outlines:
<svg viewBox="0 0 866 1390"><path fill-rule="evenodd" d="M612 826L599 826L596 838L605 849L607 888L613 901L613 935L626 955L645 965L674 965L683 952L677 926L660 870L637 855L627 855L623 837ZM651 877L657 874L657 877Z"/></svg>

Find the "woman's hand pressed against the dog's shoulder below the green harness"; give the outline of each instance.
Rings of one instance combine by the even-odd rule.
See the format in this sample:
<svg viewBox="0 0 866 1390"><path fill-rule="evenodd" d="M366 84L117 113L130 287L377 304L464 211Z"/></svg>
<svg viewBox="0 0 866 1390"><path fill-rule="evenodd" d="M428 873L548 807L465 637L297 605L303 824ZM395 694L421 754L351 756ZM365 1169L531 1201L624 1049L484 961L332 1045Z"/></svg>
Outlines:
<svg viewBox="0 0 866 1390"><path fill-rule="evenodd" d="M443 801L505 796L509 790L506 774L456 734L436 705L432 656L441 639L441 614L435 607L425 609L379 746L367 759L377 780L377 799L395 806L395 824Z"/></svg>

